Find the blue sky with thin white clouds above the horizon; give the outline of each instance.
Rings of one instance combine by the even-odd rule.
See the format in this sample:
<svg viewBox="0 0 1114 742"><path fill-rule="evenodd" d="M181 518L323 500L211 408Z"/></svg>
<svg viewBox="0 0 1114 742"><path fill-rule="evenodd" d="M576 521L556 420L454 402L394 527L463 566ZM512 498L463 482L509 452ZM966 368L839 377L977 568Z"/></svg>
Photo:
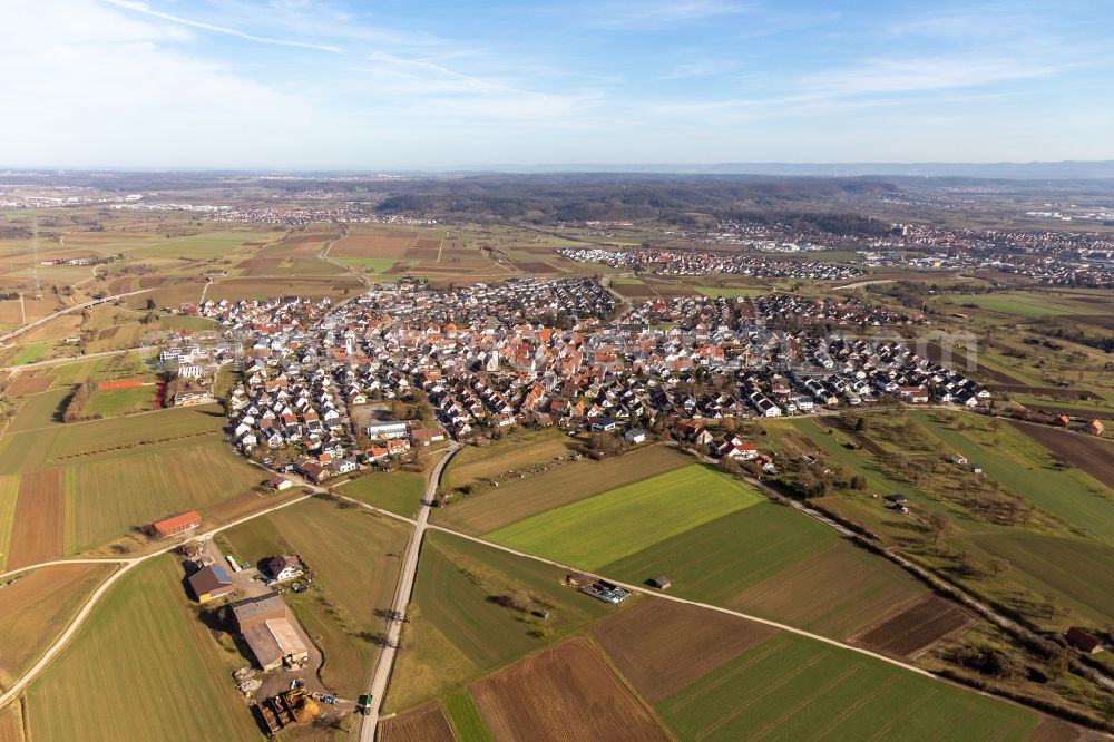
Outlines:
<svg viewBox="0 0 1114 742"><path fill-rule="evenodd" d="M1112 159L1111 28L1105 1L3 0L0 167Z"/></svg>

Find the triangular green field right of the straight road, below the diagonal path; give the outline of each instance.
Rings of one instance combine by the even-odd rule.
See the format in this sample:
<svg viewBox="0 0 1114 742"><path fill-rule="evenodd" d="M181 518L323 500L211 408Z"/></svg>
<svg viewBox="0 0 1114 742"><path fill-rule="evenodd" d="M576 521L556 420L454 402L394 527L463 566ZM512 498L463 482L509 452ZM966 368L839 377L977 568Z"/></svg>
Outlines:
<svg viewBox="0 0 1114 742"><path fill-rule="evenodd" d="M578 631L613 606L561 584L565 573L441 531L427 535L413 602L412 651L399 655L387 703L404 711ZM541 621L500 605L526 596ZM466 738L468 739L468 738Z"/></svg>

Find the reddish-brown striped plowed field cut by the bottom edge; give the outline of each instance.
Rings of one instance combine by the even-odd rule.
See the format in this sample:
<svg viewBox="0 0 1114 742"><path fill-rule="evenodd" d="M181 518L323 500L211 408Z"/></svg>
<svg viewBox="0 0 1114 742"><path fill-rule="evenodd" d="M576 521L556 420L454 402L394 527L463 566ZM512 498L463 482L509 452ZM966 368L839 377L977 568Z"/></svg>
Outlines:
<svg viewBox="0 0 1114 742"><path fill-rule="evenodd" d="M569 640L476 683L496 740L667 740L584 640Z"/></svg>

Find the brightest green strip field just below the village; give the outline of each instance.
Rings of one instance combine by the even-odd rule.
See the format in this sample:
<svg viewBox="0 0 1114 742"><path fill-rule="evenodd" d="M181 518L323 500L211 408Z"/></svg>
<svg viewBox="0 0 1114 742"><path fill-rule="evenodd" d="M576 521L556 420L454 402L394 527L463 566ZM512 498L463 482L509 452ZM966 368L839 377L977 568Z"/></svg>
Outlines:
<svg viewBox="0 0 1114 742"><path fill-rule="evenodd" d="M532 516L487 538L597 569L762 499L711 467L692 465Z"/></svg>

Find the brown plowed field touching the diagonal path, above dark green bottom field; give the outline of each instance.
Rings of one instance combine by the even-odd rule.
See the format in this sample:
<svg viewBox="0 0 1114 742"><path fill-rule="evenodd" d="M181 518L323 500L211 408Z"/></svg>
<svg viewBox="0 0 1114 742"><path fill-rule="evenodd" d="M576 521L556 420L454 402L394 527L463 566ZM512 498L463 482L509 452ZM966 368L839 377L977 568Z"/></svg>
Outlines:
<svg viewBox="0 0 1114 742"><path fill-rule="evenodd" d="M776 628L673 601L647 601L597 624L592 635L651 703L696 682Z"/></svg>

